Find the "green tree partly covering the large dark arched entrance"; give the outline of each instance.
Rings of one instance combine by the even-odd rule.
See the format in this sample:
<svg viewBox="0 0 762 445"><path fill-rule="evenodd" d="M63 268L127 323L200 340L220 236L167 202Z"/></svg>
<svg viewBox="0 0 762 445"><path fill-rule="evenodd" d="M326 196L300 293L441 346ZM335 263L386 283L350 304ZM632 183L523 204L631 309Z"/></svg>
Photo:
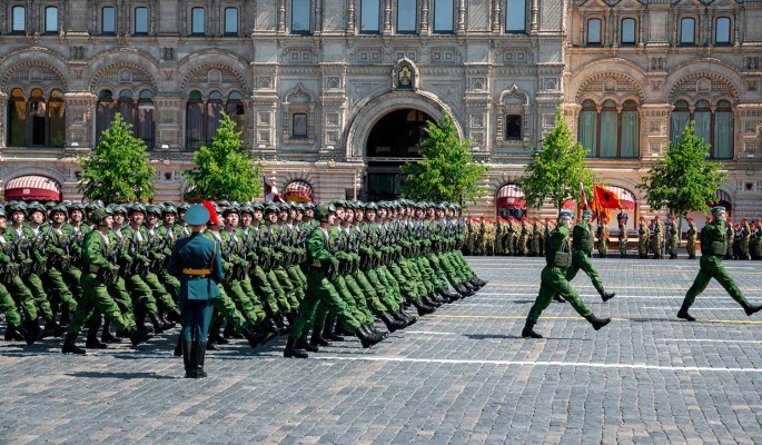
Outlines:
<svg viewBox="0 0 762 445"><path fill-rule="evenodd" d="M488 168L474 162L468 139L461 139L453 119L445 115L429 120L420 141L420 160L399 169L406 175L402 195L406 198L463 204L482 195L476 181Z"/></svg>

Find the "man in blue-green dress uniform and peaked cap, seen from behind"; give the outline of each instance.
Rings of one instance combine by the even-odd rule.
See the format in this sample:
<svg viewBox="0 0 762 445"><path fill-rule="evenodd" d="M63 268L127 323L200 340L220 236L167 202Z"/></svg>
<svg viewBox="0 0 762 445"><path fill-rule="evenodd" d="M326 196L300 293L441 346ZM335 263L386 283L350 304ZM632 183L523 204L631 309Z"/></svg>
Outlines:
<svg viewBox="0 0 762 445"><path fill-rule="evenodd" d="M204 378L212 300L219 296L217 285L222 280L219 244L204 236L209 210L200 204L190 206L185 221L191 234L177 241L167 269L180 280L180 314L182 330L182 363L186 378Z"/></svg>

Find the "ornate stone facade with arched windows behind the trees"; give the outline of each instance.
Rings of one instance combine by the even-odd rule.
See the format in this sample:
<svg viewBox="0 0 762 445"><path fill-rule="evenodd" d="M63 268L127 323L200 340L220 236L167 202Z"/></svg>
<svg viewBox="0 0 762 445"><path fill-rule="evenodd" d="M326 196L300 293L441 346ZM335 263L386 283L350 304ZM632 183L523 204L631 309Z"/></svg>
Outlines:
<svg viewBox="0 0 762 445"><path fill-rule="evenodd" d="M9 0L0 7L0 179L49 176L63 199L79 199L76 157L118 110L135 113L150 140L156 199L177 200L178 170L190 168L224 110L281 188L304 180L315 199L373 196L417 148L405 140L402 151L372 150L369 139L385 117L410 110L451 115L473 140L492 169L487 197L471 207L489 215L563 107L575 132L593 116L636 122L613 136L636 144L635 156L606 155L605 134L591 164L647 212L634 185L663 155L682 100L715 127L730 105L724 191L752 215L762 201L762 31L748 23L761 18L762 3L724 0ZM693 19L690 44L684 19ZM66 110L60 140L55 91Z"/></svg>

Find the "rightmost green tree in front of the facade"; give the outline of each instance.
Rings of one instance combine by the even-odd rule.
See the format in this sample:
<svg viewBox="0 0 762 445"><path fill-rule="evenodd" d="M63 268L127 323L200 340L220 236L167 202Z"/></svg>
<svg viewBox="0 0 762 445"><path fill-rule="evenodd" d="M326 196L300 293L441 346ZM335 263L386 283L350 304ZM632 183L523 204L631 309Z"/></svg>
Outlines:
<svg viewBox="0 0 762 445"><path fill-rule="evenodd" d="M669 208L673 215L684 217L689 211L709 211L714 194L725 184L728 174L722 164L711 162L709 144L693 131L691 121L677 138L670 142L666 156L653 166L639 189L647 194L652 209ZM680 227L682 229L682 218Z"/></svg>

